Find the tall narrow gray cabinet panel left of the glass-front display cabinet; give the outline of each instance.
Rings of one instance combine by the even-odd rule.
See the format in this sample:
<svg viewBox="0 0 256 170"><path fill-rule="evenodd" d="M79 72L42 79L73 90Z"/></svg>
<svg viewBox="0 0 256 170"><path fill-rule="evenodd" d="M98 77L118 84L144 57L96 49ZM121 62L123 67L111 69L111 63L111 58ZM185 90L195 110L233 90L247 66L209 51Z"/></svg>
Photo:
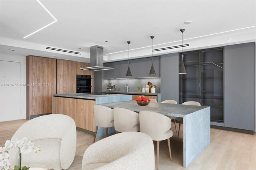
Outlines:
<svg viewBox="0 0 256 170"><path fill-rule="evenodd" d="M161 55L161 101L179 101L179 53Z"/></svg>

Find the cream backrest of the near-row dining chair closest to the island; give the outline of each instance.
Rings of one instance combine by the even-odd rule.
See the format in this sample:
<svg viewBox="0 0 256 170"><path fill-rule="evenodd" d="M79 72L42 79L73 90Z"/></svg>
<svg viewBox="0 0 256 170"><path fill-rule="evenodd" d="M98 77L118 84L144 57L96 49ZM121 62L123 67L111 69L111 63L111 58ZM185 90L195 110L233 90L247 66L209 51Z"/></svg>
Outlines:
<svg viewBox="0 0 256 170"><path fill-rule="evenodd" d="M106 106L94 105L94 119L96 126L109 127L110 122L114 120L113 109Z"/></svg>

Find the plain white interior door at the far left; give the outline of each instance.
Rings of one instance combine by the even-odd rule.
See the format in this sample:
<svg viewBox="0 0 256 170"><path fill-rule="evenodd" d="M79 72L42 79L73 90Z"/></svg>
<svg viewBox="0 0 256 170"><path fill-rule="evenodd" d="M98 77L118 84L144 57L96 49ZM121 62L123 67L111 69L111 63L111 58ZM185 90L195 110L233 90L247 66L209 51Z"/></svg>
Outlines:
<svg viewBox="0 0 256 170"><path fill-rule="evenodd" d="M20 119L20 63L0 61L0 94L0 121Z"/></svg>

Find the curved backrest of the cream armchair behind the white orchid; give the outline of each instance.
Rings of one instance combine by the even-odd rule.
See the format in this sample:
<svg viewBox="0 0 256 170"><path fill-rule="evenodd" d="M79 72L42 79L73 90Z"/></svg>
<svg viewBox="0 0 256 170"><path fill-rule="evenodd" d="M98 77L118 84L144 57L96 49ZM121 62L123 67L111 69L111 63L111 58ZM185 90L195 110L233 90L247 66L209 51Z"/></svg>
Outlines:
<svg viewBox="0 0 256 170"><path fill-rule="evenodd" d="M75 128L74 119L68 115L50 114L30 119L14 133L12 140L27 137L30 141L62 139L70 128Z"/></svg>

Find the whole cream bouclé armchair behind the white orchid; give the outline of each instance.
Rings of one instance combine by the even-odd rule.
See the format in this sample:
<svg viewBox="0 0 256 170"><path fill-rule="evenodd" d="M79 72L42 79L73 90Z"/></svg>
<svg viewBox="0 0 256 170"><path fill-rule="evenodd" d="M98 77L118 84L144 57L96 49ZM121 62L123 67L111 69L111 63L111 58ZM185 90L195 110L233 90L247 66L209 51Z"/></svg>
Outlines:
<svg viewBox="0 0 256 170"><path fill-rule="evenodd" d="M23 165L39 164L65 170L72 164L76 153L76 124L71 117L51 114L31 119L16 131L11 140L23 137L42 149L38 153L22 154ZM18 164L18 147L10 150L9 160L11 166Z"/></svg>

